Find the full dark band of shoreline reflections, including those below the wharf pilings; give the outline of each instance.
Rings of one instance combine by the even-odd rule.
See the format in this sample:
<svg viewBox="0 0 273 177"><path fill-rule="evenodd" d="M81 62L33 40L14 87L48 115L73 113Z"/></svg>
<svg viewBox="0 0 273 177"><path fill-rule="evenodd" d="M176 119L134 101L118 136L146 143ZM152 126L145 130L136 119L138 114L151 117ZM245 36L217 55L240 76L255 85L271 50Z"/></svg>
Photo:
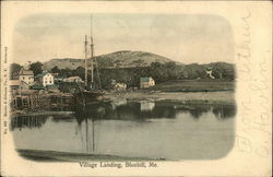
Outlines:
<svg viewBox="0 0 273 177"><path fill-rule="evenodd" d="M202 114L212 113L221 119L232 118L236 114L235 105L189 105L177 102L128 102L116 105L110 102L99 102L88 105L86 110L83 107L74 107L75 118L79 125L86 118L111 119L111 120L138 120L169 118L174 119L178 113L189 113L192 118L199 119ZM16 116L12 118L12 130L14 128L40 128L48 116ZM69 121L69 116L58 116L52 119L56 122ZM72 121L72 120L71 120Z"/></svg>

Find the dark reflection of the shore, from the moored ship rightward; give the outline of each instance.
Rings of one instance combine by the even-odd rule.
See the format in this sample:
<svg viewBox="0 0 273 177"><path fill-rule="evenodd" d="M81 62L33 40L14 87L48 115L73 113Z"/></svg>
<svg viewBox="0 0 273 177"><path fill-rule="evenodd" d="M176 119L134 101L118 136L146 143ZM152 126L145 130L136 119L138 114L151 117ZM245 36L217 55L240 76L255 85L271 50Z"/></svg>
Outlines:
<svg viewBox="0 0 273 177"><path fill-rule="evenodd" d="M127 102L118 104L111 102L99 102L88 105L86 111L76 107L76 117L94 119L111 119L111 120L145 120L169 118L174 119L178 113L189 113L192 118L199 119L202 114L213 113L217 119L234 117L236 114L235 105L198 105L183 104L174 101L157 102Z"/></svg>

